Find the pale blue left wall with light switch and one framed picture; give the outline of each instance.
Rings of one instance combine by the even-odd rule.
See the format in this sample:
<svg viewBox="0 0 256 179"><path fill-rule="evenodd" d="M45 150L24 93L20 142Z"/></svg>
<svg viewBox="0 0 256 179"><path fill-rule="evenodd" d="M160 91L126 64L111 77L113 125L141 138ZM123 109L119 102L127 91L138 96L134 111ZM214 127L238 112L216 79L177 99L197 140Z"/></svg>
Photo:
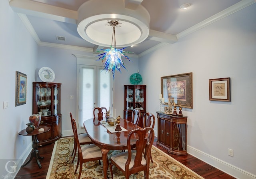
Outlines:
<svg viewBox="0 0 256 179"><path fill-rule="evenodd" d="M8 0L0 1L0 24L0 159L26 159L32 149L32 137L18 133L27 127L32 114L32 82L38 45L12 11ZM26 104L15 107L16 71L27 75L27 97ZM3 109L3 101L8 101L8 108Z"/></svg>

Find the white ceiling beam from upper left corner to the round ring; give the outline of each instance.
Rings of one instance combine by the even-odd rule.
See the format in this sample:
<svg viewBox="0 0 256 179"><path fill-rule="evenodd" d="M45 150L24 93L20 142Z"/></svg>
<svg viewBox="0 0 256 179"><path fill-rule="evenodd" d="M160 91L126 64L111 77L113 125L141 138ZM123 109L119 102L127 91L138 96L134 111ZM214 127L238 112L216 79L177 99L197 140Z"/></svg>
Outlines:
<svg viewBox="0 0 256 179"><path fill-rule="evenodd" d="M77 12L74 10L68 10L32 0L11 0L9 4L12 9L18 13L72 24L76 24L77 21Z"/></svg>

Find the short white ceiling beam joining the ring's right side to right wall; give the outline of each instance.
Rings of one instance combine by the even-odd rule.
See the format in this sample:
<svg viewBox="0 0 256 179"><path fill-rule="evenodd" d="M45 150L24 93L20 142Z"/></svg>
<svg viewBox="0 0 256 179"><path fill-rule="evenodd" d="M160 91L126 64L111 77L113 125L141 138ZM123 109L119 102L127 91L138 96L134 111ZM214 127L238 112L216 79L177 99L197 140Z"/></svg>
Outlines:
<svg viewBox="0 0 256 179"><path fill-rule="evenodd" d="M158 31L155 31L155 30L149 30L149 35L148 35L147 39L155 40L155 41L158 41L158 42L166 42L166 43L169 43L169 44L173 44L173 43L177 42L177 40L178 40L176 35L167 34L167 33L164 33L164 32L158 32Z"/></svg>

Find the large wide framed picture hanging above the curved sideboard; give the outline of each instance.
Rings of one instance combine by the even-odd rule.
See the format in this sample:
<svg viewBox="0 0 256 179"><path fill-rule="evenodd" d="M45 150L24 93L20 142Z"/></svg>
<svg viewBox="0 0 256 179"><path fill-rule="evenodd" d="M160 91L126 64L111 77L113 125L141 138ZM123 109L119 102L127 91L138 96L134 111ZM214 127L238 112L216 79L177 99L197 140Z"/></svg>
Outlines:
<svg viewBox="0 0 256 179"><path fill-rule="evenodd" d="M193 108L192 98L192 72L161 77L161 92L163 102L175 102L181 107Z"/></svg>

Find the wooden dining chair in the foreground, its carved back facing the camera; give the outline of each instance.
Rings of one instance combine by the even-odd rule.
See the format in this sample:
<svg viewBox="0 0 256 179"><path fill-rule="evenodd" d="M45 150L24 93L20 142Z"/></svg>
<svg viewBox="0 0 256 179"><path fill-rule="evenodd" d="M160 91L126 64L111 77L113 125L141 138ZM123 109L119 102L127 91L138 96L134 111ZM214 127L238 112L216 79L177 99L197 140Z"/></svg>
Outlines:
<svg viewBox="0 0 256 179"><path fill-rule="evenodd" d="M131 145L133 145L135 139L134 150ZM128 179L131 174L138 173L139 171L144 171L144 177L148 179L150 151L153 141L154 130L150 127L130 131L127 138L128 150L110 157L111 177L113 178L112 167L115 165L120 171L122 171L126 179Z"/></svg>

